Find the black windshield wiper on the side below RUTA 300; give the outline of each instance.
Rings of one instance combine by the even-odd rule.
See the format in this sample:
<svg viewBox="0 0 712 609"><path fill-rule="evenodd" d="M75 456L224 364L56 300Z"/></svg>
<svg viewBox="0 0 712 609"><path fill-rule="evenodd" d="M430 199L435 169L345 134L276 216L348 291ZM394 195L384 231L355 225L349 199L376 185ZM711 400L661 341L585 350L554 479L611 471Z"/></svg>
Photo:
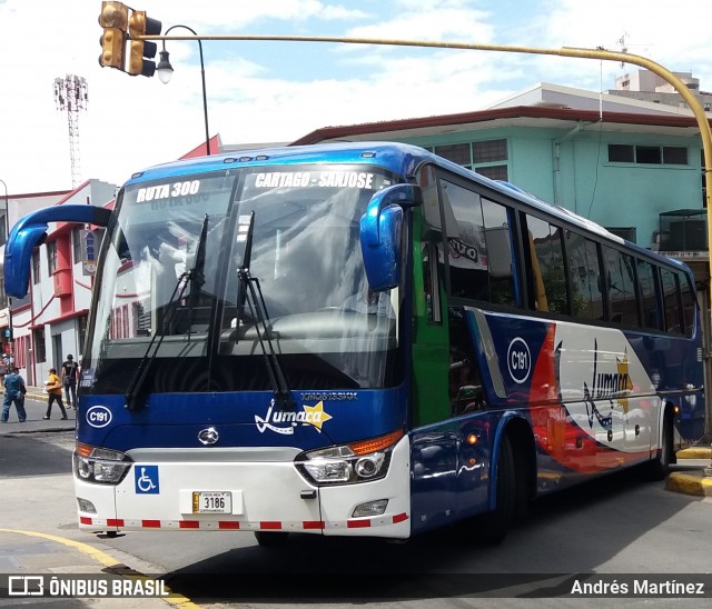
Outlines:
<svg viewBox="0 0 712 609"><path fill-rule="evenodd" d="M188 282L190 282L190 292L188 296L188 307L189 307L189 316L190 316L190 326L188 327L188 337L190 337L190 327L192 326L192 316L195 310L195 301L200 293L200 289L205 283L205 242L206 236L208 232L208 214L205 214L202 219L202 227L200 228L200 236L198 237L198 244L196 247L196 258L192 264L192 268L189 271L184 271L178 277L178 281L176 281L176 287L174 288L168 302L165 304L166 315L164 316L162 323L159 328L156 328L151 340L146 348L146 352L141 358L141 361L134 372L131 380L129 381L126 393L123 397L126 398L126 408L129 410L136 410L139 406L145 406L139 403L139 396L141 395L141 389L146 383L146 378L148 377L148 372L151 368L151 365L156 360L156 355L160 349L161 343L164 342L164 338L166 338L166 333L170 329L174 318L177 315L178 307L175 304L182 299L182 294L186 291L186 287Z"/></svg>

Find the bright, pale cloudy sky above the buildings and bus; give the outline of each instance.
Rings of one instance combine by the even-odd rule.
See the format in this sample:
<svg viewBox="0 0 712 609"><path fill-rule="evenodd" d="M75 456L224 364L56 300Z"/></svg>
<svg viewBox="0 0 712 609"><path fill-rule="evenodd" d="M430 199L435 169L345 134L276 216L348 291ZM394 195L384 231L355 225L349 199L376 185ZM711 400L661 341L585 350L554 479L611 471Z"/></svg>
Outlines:
<svg viewBox="0 0 712 609"><path fill-rule="evenodd" d="M709 0L132 0L165 32L451 41L640 54L712 91ZM69 113L55 80L87 82L76 172L121 184L205 140L199 46L167 41L174 76L101 68L100 0L0 0L0 180L10 194L72 188ZM176 28L171 34L189 34ZM160 47L160 43L159 43ZM605 91L633 64L492 51L202 41L210 136L289 142L315 129L486 108L548 82ZM2 189L2 183L0 183ZM0 190L0 196L3 191Z"/></svg>

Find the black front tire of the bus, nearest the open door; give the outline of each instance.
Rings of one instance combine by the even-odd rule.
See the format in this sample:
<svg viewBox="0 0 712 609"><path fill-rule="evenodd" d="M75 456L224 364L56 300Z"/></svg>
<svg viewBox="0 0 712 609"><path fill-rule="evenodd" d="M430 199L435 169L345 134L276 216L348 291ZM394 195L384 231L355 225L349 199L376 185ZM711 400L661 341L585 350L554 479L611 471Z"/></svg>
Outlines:
<svg viewBox="0 0 712 609"><path fill-rule="evenodd" d="M512 442L505 435L500 447L497 463L496 506L477 522L477 538L484 543L500 543L507 535L516 508L516 463Z"/></svg>

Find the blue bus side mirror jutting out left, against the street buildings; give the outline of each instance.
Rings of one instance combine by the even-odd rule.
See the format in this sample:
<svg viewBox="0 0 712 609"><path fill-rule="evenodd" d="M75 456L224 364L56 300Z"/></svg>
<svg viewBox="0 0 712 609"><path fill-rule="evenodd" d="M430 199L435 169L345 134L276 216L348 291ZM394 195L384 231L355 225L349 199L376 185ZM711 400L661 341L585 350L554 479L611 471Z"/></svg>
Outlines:
<svg viewBox="0 0 712 609"><path fill-rule="evenodd" d="M30 284L32 250L43 242L49 222L83 222L101 227L109 224L113 212L86 204L53 206L28 213L12 227L4 247L4 291L24 298Z"/></svg>

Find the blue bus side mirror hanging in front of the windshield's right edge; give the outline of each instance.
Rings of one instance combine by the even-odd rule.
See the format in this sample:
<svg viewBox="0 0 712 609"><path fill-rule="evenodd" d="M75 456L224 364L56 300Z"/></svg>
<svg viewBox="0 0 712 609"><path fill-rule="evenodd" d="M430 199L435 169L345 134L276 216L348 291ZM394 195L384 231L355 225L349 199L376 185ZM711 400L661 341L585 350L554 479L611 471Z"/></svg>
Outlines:
<svg viewBox="0 0 712 609"><path fill-rule="evenodd" d="M360 251L372 291L400 283L403 209L422 202L421 188L414 184L384 188L370 198L360 219Z"/></svg>

